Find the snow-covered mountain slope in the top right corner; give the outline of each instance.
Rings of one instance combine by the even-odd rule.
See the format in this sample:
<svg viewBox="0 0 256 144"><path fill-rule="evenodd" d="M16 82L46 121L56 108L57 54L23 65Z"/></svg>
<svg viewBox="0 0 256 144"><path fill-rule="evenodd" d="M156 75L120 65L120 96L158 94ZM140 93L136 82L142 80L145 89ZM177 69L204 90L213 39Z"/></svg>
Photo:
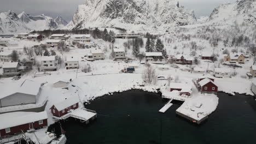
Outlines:
<svg viewBox="0 0 256 144"><path fill-rule="evenodd" d="M238 24L256 24L256 1L240 0L233 4L222 4L215 8L207 21Z"/></svg>

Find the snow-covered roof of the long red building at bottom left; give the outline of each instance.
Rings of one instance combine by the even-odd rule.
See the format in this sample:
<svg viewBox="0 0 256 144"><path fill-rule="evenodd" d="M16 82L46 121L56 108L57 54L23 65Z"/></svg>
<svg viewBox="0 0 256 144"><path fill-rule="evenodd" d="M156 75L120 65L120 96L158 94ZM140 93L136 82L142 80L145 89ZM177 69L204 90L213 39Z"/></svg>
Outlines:
<svg viewBox="0 0 256 144"><path fill-rule="evenodd" d="M3 115L7 115L7 114L3 114ZM0 129L16 127L18 125L33 123L43 119L48 119L46 111L34 112L27 115L16 115L9 118L0 118L0 123L1 123Z"/></svg>

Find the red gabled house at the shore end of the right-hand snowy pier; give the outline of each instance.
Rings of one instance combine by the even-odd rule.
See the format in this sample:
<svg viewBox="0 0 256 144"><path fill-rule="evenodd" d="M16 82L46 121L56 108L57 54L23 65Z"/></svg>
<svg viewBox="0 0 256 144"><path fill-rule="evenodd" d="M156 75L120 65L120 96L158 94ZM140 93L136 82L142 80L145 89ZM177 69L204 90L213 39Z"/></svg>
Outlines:
<svg viewBox="0 0 256 144"><path fill-rule="evenodd" d="M214 80L212 81L212 79L208 79L208 78L205 78L199 81L199 89L201 93L217 93L218 92L218 87L214 83Z"/></svg>

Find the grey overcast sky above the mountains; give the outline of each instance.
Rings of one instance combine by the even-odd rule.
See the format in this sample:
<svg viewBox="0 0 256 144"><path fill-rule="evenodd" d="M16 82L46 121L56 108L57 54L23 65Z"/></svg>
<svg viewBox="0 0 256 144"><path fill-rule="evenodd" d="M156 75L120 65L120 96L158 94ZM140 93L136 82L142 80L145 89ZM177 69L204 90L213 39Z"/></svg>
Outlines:
<svg viewBox="0 0 256 144"><path fill-rule="evenodd" d="M0 0L0 12L14 10L16 13L25 11L27 14L45 14L52 17L62 16L71 21L79 4L85 0ZM157 1L157 0L153 0ZM180 5L193 9L196 17L210 15L219 4L233 3L235 0L179 0Z"/></svg>

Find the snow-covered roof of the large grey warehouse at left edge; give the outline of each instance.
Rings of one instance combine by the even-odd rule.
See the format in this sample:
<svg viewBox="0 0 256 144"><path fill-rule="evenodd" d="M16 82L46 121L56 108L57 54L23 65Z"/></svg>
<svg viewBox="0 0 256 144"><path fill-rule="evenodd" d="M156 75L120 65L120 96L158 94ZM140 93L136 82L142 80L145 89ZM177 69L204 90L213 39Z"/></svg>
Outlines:
<svg viewBox="0 0 256 144"><path fill-rule="evenodd" d="M40 87L41 83L32 80L25 80L22 83L9 83L9 85L2 85L0 86L0 99L8 97L14 93L37 95Z"/></svg>

